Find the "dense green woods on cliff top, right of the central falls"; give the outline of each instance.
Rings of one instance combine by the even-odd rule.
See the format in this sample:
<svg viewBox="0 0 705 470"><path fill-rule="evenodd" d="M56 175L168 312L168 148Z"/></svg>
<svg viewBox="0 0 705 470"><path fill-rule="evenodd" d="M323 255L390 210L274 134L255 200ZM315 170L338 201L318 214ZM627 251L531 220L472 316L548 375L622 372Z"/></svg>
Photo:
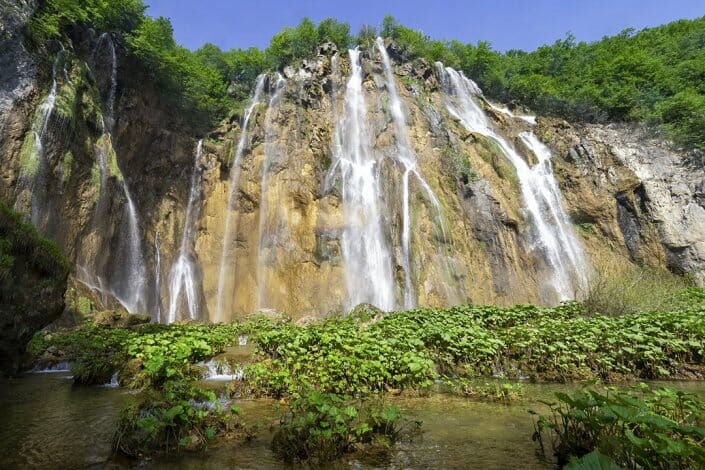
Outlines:
<svg viewBox="0 0 705 470"><path fill-rule="evenodd" d="M568 34L533 52L433 40L390 16L382 34L409 58L463 70L497 100L567 119L656 124L679 143L705 149L705 17L592 43Z"/></svg>

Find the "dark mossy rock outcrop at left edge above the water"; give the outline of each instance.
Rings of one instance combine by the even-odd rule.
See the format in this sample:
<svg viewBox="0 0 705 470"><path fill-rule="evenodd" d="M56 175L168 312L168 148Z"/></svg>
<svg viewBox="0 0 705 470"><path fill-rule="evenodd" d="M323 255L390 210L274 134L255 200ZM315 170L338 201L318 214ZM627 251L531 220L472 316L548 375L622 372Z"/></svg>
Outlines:
<svg viewBox="0 0 705 470"><path fill-rule="evenodd" d="M64 311L69 272L58 247L0 203L0 373L18 373L32 335Z"/></svg>

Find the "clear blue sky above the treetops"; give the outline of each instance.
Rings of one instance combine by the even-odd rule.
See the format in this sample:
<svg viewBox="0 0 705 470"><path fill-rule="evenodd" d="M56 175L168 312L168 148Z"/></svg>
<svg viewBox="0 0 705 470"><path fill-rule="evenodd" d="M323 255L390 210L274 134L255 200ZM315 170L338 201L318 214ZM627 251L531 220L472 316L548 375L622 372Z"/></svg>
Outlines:
<svg viewBox="0 0 705 470"><path fill-rule="evenodd" d="M147 14L171 19L179 44L197 49L264 48L284 26L307 16L379 25L386 14L434 39L488 40L494 49L533 50L562 39L594 41L705 15L704 0L144 0Z"/></svg>

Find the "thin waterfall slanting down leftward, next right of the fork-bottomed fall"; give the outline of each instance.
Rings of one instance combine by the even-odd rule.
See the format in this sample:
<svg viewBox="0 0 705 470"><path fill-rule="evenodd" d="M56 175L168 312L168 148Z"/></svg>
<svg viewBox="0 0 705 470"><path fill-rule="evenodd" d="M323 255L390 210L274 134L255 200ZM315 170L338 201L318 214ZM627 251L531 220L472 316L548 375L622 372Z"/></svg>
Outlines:
<svg viewBox="0 0 705 470"><path fill-rule="evenodd" d="M223 295L225 293L225 281L228 277L227 267L228 267L228 251L230 250L230 225L232 223L232 211L233 211L233 198L237 194L237 187L240 182L240 161L242 160L242 154L245 150L245 145L247 144L247 124L250 122L250 117L262 99L262 92L264 91L264 79L265 75L260 75L257 77L257 84L255 85L255 91L250 100L250 105L245 110L245 114L240 124L240 140L237 143L237 149L235 150L235 158L233 159L233 164L230 167L230 183L228 189L228 199L226 203L227 214L225 216L225 231L223 232L223 249L220 254L220 270L218 273L218 292L217 292L217 304L215 309L215 321L219 322L222 320L223 315Z"/></svg>

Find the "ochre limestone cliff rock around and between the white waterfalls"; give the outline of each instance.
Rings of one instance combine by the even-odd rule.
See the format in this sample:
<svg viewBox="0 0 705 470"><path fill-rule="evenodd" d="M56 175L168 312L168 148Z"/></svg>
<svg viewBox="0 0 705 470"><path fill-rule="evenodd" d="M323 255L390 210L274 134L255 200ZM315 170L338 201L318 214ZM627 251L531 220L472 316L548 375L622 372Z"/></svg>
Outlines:
<svg viewBox="0 0 705 470"><path fill-rule="evenodd" d="M170 113L158 90L134 77L134 64L120 58L119 45L115 125L106 131L110 67L89 60L96 55L92 51L105 47L100 41L87 36L67 53L57 79L57 103L63 105L42 136L49 168L45 200L51 204L51 223L42 228L76 263L75 277L114 306L126 276L139 271L123 266L127 252L119 248L130 235L125 227L131 194L144 273L138 286L143 298L136 305L155 319L163 320L169 309L179 256L192 267L189 285L201 319L229 320L258 309L321 316L349 308L343 245L350 221L340 175L331 170L352 72L348 55L323 47L300 69L284 70L283 80L269 74L247 127L240 127L242 115L232 116L204 137L194 162L197 136ZM0 60L25 60L25 69L34 70L18 40L12 44L14 55L8 59L3 53ZM403 307L408 292L413 305L557 302L547 288L549 266L536 246L516 169L491 139L469 132L448 112L431 64L404 63L395 46L387 46L404 139L416 162L408 186L408 266L403 241L408 169L395 157L405 140L393 122L378 51L362 51L360 63L394 306ZM35 199L23 193L23 155L47 80L32 78L41 73L17 73L15 81L23 85L3 84L0 90L5 93L0 97L13 96L12 106L3 105L0 113L0 126L10 129L0 142L6 156L0 194L26 207L22 198ZM686 155L634 129L548 118L533 125L476 99L496 132L529 164L537 156L520 133L532 130L551 148L571 230L588 258L702 277L705 175L688 166ZM243 132L237 186L231 188ZM194 168L200 175L198 218L193 242L182 243ZM183 302L176 305L176 318L184 318Z"/></svg>

